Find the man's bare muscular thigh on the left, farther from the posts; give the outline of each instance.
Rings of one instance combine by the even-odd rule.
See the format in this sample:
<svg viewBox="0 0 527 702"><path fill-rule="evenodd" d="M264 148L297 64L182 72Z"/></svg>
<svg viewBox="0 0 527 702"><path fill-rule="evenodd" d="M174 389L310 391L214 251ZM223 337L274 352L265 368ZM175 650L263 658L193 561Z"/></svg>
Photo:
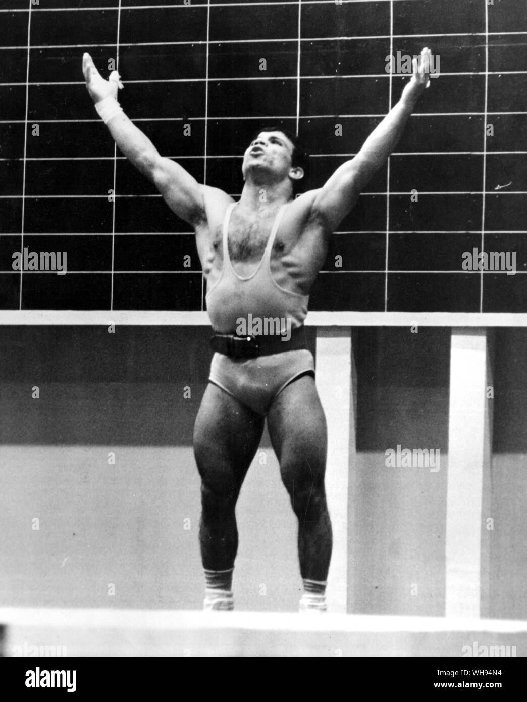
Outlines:
<svg viewBox="0 0 527 702"><path fill-rule="evenodd" d="M208 489L237 497L263 424L260 415L208 383L194 425L194 456Z"/></svg>

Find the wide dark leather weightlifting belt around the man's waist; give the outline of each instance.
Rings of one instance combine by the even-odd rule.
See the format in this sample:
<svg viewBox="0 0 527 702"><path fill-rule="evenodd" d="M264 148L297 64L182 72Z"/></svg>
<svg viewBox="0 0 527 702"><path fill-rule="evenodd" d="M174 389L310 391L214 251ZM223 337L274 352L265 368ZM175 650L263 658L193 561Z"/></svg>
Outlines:
<svg viewBox="0 0 527 702"><path fill-rule="evenodd" d="M211 337L214 351L231 358L255 358L270 356L283 351L296 351L307 348L304 326L291 329L291 338L283 336L236 336L236 334L215 334Z"/></svg>

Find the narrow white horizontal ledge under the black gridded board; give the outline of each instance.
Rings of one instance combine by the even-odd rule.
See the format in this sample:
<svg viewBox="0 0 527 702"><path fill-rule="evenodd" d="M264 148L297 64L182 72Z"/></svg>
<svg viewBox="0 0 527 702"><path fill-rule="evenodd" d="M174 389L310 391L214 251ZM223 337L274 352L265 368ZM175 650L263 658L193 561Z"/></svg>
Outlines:
<svg viewBox="0 0 527 702"><path fill-rule="evenodd" d="M0 310L0 325L211 326L207 312L164 310ZM306 326L527 326L512 312L309 312Z"/></svg>

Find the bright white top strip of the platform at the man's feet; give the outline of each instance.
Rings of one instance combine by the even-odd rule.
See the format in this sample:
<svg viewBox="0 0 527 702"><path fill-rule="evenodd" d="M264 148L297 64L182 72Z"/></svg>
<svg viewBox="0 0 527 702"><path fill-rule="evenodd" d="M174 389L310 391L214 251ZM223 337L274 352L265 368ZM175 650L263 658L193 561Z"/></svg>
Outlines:
<svg viewBox="0 0 527 702"><path fill-rule="evenodd" d="M526 633L527 622L508 619L474 619L377 614L326 614L305 616L296 612L203 612L164 609L39 609L4 607L0 624L36 628L127 630L244 629L273 631L355 632L492 632Z"/></svg>

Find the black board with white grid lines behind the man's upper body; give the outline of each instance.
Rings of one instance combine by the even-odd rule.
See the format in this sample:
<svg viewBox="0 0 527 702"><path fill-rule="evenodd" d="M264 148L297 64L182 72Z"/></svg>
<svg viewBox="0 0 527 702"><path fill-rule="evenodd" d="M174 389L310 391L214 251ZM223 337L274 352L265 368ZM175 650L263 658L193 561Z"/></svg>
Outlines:
<svg viewBox="0 0 527 702"><path fill-rule="evenodd" d="M401 94L406 79L387 74L386 56L429 46L441 76L340 225L311 309L527 311L523 2L29 4L0 8L0 308L204 308L192 234L115 158L82 82L83 51L104 75L118 58L121 104L162 154L236 196L244 147L269 121L298 128L310 186L322 185ZM482 243L516 251L521 274L462 272L462 253ZM68 274L13 272L22 245L67 251Z"/></svg>

